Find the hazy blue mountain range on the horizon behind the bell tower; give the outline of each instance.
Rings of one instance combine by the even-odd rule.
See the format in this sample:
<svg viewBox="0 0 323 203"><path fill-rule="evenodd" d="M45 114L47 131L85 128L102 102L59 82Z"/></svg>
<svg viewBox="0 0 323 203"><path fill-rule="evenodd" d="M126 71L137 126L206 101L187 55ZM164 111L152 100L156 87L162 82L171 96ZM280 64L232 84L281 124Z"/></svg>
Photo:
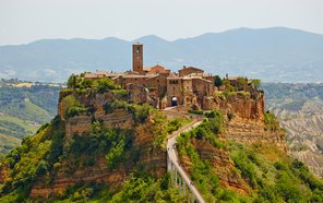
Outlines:
<svg viewBox="0 0 323 203"><path fill-rule="evenodd" d="M237 28L164 40L145 36L144 65L195 65L213 74L267 82L323 82L323 35L285 27ZM65 81L72 72L131 69L131 44L105 39L43 39L0 47L0 77Z"/></svg>

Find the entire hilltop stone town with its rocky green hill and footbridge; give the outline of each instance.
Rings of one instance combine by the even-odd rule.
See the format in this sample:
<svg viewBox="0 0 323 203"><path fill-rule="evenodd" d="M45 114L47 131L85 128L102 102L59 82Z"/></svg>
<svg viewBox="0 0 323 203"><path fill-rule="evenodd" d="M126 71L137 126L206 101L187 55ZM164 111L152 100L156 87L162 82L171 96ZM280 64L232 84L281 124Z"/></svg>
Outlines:
<svg viewBox="0 0 323 203"><path fill-rule="evenodd" d="M58 116L0 160L0 201L320 200L259 80L144 68L143 45L132 52L131 71L70 76Z"/></svg>

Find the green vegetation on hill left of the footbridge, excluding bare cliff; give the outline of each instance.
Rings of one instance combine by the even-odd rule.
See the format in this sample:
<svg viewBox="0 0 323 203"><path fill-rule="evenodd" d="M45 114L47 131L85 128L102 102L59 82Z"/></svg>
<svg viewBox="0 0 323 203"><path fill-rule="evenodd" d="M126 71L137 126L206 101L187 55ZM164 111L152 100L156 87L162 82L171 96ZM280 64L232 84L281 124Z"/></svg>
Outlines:
<svg viewBox="0 0 323 203"><path fill-rule="evenodd" d="M133 116L135 128L153 136L148 151L162 148L168 133L190 122L183 118L168 121L163 112L148 105L127 104L124 91L110 89L110 83L104 86L106 86L104 92L115 95L111 103L104 105L106 114L117 109L130 112ZM94 111L89 107L82 106L76 97L69 95L62 99L64 118L69 119L79 114L93 116ZM110 172L118 168L132 168L133 174L124 180L122 188L110 188L97 182L76 182L64 193L48 201L181 202L182 198L170 186L168 175L156 179L147 171L148 166L140 159L141 153L146 152L133 145L137 136L134 129L107 129L101 119L96 120L93 117L88 135L74 134L72 139L67 140L64 122L56 117L50 124L41 126L35 135L25 138L22 146L1 158L0 176L3 176L5 180L3 184L0 184L0 202L34 201L28 195L35 183L41 182L41 186L50 187L58 172L73 175L80 168L97 167L103 159L107 166L106 170Z"/></svg>

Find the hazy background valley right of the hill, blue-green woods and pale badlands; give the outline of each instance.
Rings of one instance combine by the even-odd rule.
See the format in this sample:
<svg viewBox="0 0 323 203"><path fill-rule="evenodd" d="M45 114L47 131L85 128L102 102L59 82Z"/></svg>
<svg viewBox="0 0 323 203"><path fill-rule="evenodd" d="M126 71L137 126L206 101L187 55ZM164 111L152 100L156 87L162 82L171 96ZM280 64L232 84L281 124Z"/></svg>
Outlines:
<svg viewBox="0 0 323 203"><path fill-rule="evenodd" d="M264 84L263 87L267 108L286 129L291 155L323 177L323 85Z"/></svg>

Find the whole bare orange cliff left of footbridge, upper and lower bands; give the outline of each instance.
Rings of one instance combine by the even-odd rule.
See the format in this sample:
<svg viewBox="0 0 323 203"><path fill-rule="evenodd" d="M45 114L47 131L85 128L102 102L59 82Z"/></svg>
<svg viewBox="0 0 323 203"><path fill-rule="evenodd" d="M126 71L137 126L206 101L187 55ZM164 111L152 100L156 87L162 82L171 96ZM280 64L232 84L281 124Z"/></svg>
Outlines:
<svg viewBox="0 0 323 203"><path fill-rule="evenodd" d="M64 95L67 96L67 95ZM154 145L157 134L154 133L154 119L148 118L143 124L135 123L133 115L118 108L106 114L103 106L111 103L113 95L79 95L76 99L85 107L92 107L95 111L91 115L82 114L65 119L62 111L63 104L59 104L59 116L64 120L65 138L63 158L57 164L56 172L50 182L46 177L39 177L31 191L31 196L49 198L62 194L69 186L77 182L105 183L109 190L121 187L125 179L134 171L144 171L157 178L166 174L166 151ZM62 101L62 99L60 99ZM69 145L75 136L89 136L93 120L100 120L107 129L133 130L134 136L129 141L130 146L125 151L124 162L111 169L108 167L106 154L98 154L88 160L88 157L75 157L68 153ZM84 152L86 153L86 152ZM77 159L75 164L74 160ZM92 162L92 164L86 164ZM88 166L91 165L91 166Z"/></svg>

